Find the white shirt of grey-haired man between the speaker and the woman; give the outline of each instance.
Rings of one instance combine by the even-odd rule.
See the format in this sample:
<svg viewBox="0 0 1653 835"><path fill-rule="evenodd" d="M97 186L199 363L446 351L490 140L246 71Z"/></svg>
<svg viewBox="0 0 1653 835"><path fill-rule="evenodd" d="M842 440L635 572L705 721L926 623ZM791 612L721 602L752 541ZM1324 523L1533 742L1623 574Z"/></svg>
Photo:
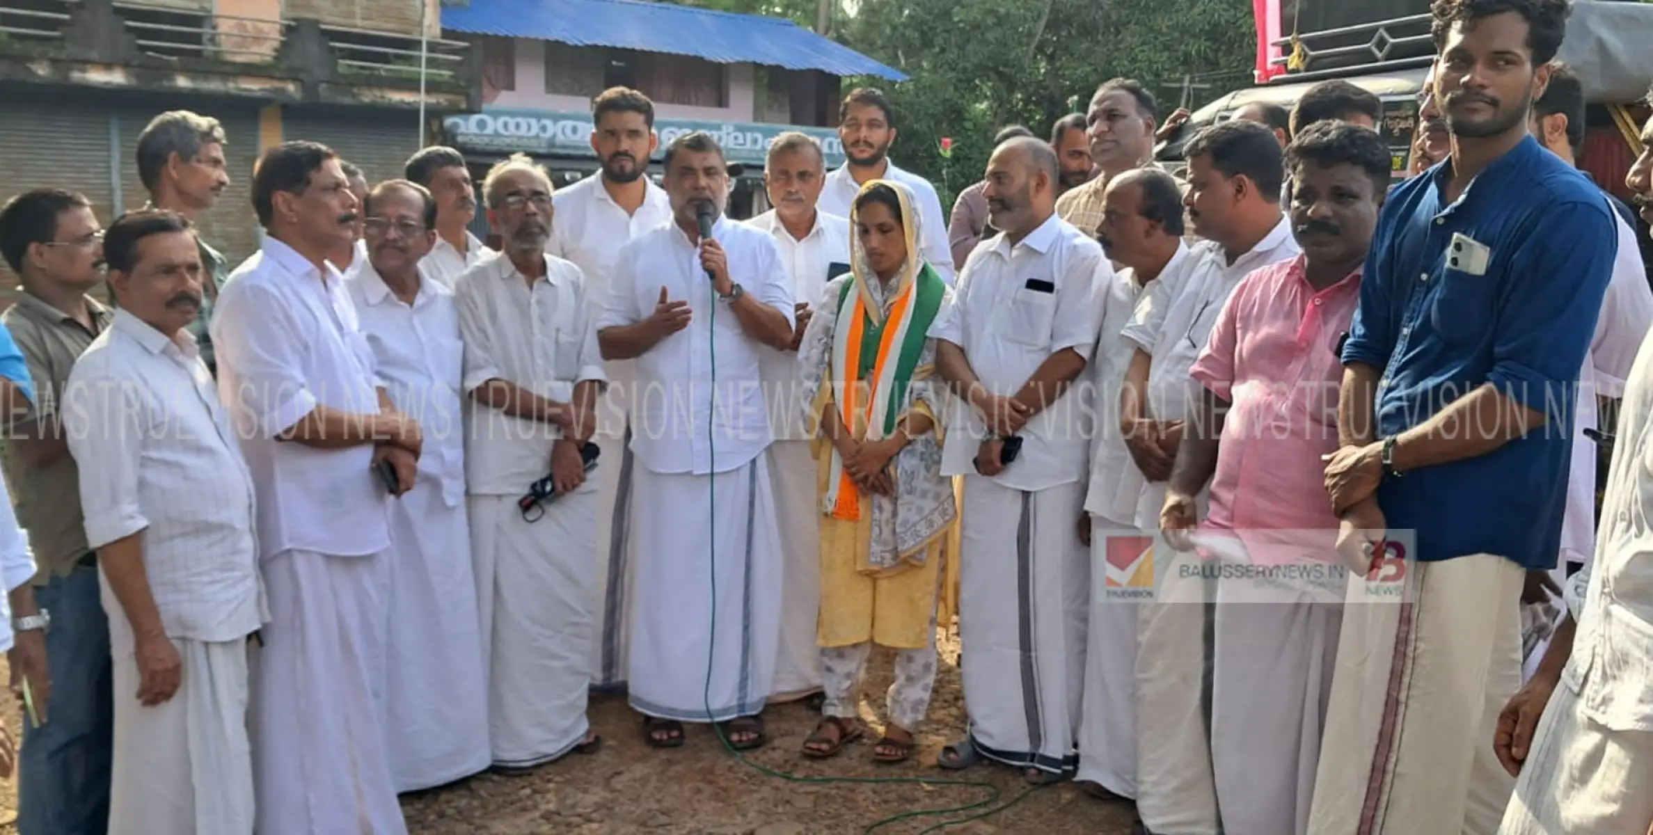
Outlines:
<svg viewBox="0 0 1653 835"><path fill-rule="evenodd" d="M826 281L850 271L850 222L815 212L815 227L802 240L787 231L785 223L774 210L764 212L747 222L749 227L765 231L775 238L780 248L780 263L792 281L792 298L812 308L826 304L822 293ZM764 346L764 395L769 398L769 428L775 440L805 441L803 407L800 392L803 390L803 367L798 364L797 351L775 351Z"/></svg>

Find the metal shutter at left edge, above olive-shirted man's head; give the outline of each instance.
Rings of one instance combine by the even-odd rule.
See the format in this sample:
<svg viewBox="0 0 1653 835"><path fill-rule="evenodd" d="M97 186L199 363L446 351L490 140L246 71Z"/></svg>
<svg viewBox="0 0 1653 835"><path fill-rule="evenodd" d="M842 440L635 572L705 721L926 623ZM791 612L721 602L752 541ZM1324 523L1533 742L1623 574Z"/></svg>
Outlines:
<svg viewBox="0 0 1653 835"><path fill-rule="evenodd" d="M7 86L0 91L0 202L41 187L81 192L109 223L114 185L109 111L71 91ZM17 293L17 273L0 261L0 308Z"/></svg>

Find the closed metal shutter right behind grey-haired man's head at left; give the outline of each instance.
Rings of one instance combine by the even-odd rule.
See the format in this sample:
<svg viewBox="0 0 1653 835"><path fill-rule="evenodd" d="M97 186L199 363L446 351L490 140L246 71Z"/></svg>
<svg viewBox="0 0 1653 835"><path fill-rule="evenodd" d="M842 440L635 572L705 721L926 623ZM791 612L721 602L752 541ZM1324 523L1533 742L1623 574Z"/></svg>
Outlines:
<svg viewBox="0 0 1653 835"><path fill-rule="evenodd" d="M139 208L149 200L144 182L137 177L137 136L157 114L169 109L188 109L212 116L223 126L225 162L230 170L230 187L218 195L218 203L195 218L202 238L222 251L230 266L241 263L258 250L258 217L253 213L253 164L258 160L258 104L235 99L167 99L127 104L116 112L119 117L121 182L126 208Z"/></svg>

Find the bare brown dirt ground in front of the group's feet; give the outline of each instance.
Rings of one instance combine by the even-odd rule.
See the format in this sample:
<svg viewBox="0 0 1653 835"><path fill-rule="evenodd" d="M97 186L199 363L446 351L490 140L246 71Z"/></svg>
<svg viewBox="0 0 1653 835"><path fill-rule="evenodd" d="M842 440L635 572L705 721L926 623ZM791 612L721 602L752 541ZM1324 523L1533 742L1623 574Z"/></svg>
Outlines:
<svg viewBox="0 0 1653 835"><path fill-rule="evenodd" d="M903 777L911 784L856 785L793 782L772 777L729 756L709 729L691 728L688 744L655 751L643 742L641 721L620 696L592 699L592 721L605 744L595 756L570 756L522 777L478 775L469 780L403 797L408 832L415 835L853 835L893 815L946 809L988 799L980 787L917 780L965 779L998 787L998 804L1022 797L1027 784L1010 769L977 766L964 774L936 767L941 746L964 731L964 701L957 668L957 638L944 637L929 723L919 731L921 751L904 766L876 766L868 739L845 747L838 759L798 756L817 714L802 704L765 713L770 742L750 762L798 777ZM874 653L861 701L873 728L883 723L883 691L891 658ZM3 675L3 660L0 660ZM0 678L3 681L3 678ZM7 711L17 732L18 714ZM12 835L17 782L0 794L0 835ZM979 814L901 820L878 833L914 835L947 820ZM949 833L1127 835L1132 812L1126 804L1091 799L1074 784L1033 790L1010 809L984 820L947 827Z"/></svg>

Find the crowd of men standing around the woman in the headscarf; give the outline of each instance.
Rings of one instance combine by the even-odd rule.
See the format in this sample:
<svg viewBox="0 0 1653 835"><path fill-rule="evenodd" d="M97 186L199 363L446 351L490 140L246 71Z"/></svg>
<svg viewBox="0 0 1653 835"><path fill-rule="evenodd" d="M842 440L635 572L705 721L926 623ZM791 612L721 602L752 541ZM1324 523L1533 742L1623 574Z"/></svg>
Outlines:
<svg viewBox="0 0 1653 835"><path fill-rule="evenodd" d="M1653 832L1653 289L1574 167L1567 12L1435 3L1436 159L1400 185L1352 84L1205 127L1184 180L1112 79L1048 142L1003 131L950 225L874 89L845 165L777 139L742 223L716 141L656 185L653 104L615 88L562 190L524 155L478 188L448 147L380 184L271 147L231 268L193 225L230 137L157 116L142 210L0 207L20 833L400 833L398 794L598 754L603 688L660 749L815 699L803 754L838 754L869 643L826 640L795 395L883 261L946 283L911 344L950 407L894 443L931 437L957 531L874 759L912 754L955 584L944 769L1078 779L1159 835ZM1627 187L1653 220L1653 150ZM1598 532L1587 435L1617 438Z"/></svg>

